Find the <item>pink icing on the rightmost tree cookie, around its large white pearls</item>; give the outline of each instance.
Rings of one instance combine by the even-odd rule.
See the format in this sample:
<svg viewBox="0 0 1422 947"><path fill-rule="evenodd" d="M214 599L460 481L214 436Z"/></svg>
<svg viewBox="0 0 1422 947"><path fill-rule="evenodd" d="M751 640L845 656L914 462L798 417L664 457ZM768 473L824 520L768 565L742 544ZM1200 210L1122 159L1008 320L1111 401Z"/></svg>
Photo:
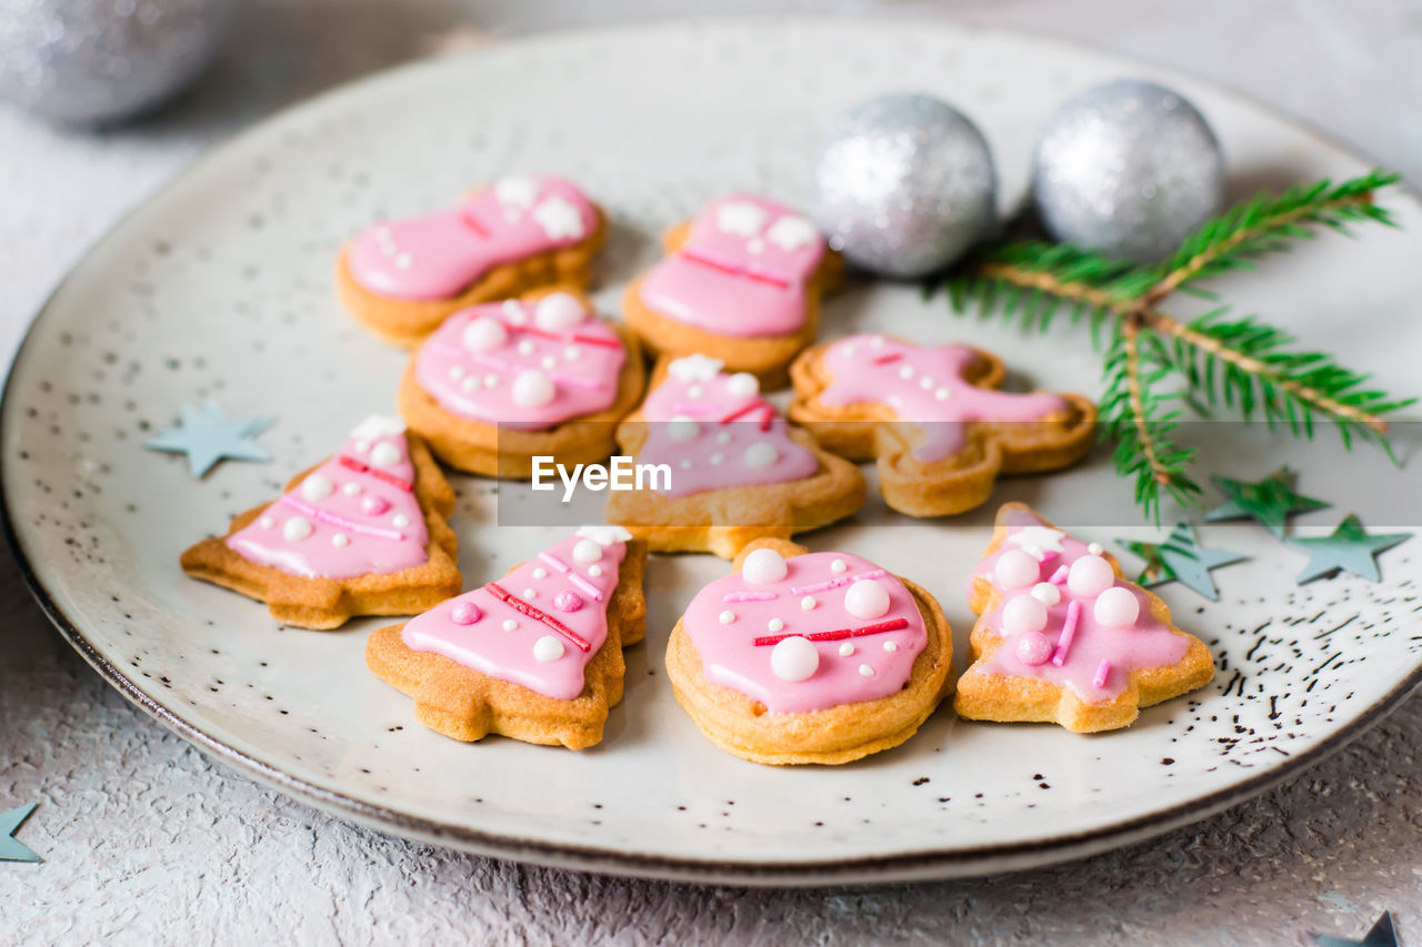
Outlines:
<svg viewBox="0 0 1422 947"><path fill-rule="evenodd" d="M988 579L994 587L1005 592L1003 604L981 619L981 627L990 628L998 636L1001 636L1003 607L1005 607L1005 603L1018 594L1028 594L1031 590L1031 586L1028 586L1008 592L1001 589L994 579L994 569L1003 553L1022 547L1012 537L1022 535L1024 529L1034 530L1021 540L1027 543L1028 552L1032 552L1032 539L1047 540L1047 545L1052 542L1061 545L1059 556L1045 563L1047 567L1042 569L1041 582L1049 580L1048 573L1058 569L1055 563L1069 567L1076 559L1089 555L1086 543L1072 539L1061 530L1052 529L1051 533L1055 533L1055 536L1037 532L1049 528L1032 513L1018 510L1008 523L1003 546L991 556L983 559L977 569L973 570L974 577ZM1038 553L1041 552L1051 550L1039 549ZM1061 601L1047 609L1047 627L1042 630L1042 634L1057 644L1052 660L1041 664L1030 664L1022 660L1024 653L1032 657L1034 648L1030 646L1020 647L1018 638L1037 634L1030 631L1007 636L1004 644L993 651L990 658L980 661L975 670L983 674L1030 677L1051 681L1052 684L1064 684L1088 704L1105 704L1126 690L1130 671L1148 667L1169 667L1185 657L1190 646L1189 640L1175 634L1150 614L1149 599L1145 592L1139 586L1119 577L1113 584L1118 589L1129 590L1136 597L1140 611L1133 624L1126 627L1102 626L1092 613L1095 597L1078 596L1062 583L1058 586ZM1066 614L1072 609L1072 603L1076 604L1075 611L1078 613L1075 630L1068 643L1069 648L1058 665L1055 661L1062 644L1059 638L1065 630ZM1102 668L1105 670L1102 671Z"/></svg>

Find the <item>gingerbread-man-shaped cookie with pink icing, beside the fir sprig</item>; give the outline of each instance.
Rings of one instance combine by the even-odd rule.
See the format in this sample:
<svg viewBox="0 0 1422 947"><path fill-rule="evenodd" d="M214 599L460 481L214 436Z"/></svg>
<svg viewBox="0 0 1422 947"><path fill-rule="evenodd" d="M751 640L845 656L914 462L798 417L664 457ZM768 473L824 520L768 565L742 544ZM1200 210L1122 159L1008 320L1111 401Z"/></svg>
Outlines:
<svg viewBox="0 0 1422 947"><path fill-rule="evenodd" d="M1096 424L1078 394L997 391L1003 363L967 346L849 336L802 354L791 375L791 419L840 456L877 458L884 502L910 516L985 503L1000 474L1069 466Z"/></svg>

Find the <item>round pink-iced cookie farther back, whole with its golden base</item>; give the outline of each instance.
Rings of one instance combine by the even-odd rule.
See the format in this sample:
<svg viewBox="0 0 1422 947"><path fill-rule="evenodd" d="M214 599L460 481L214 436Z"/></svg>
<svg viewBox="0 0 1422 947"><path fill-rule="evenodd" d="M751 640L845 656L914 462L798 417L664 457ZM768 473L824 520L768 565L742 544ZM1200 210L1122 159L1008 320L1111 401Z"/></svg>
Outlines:
<svg viewBox="0 0 1422 947"><path fill-rule="evenodd" d="M445 464L526 478L535 456L611 454L644 382L634 336L582 293L536 290L447 319L410 360L400 412Z"/></svg>

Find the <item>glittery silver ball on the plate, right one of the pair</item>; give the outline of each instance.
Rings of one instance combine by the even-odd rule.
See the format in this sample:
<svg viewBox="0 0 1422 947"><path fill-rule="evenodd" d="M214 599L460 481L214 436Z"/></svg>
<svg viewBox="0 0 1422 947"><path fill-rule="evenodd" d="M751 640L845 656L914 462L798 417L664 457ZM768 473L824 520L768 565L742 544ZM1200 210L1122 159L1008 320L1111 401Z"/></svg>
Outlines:
<svg viewBox="0 0 1422 947"><path fill-rule="evenodd" d="M1119 80L1069 98L1037 144L1032 199L1054 239L1158 260L1220 205L1224 159L1179 92Z"/></svg>

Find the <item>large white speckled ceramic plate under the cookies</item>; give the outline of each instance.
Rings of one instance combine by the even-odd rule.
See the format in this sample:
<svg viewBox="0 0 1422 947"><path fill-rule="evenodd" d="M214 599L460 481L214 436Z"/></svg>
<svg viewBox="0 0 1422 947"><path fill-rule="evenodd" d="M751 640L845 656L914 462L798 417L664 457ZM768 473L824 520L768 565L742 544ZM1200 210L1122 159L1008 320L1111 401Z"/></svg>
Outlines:
<svg viewBox="0 0 1422 947"><path fill-rule="evenodd" d="M651 563L647 644L629 653L627 697L604 742L582 754L428 732L407 698L365 671L375 623L283 630L263 606L176 567L185 546L273 496L354 419L391 408L404 355L341 313L330 280L337 247L368 220L439 206L501 172L567 173L611 210L600 299L614 306L620 286L656 259L660 229L705 198L749 188L805 202L815 144L853 101L919 88L957 102L991 139L1007 206L1021 196L1034 129L1054 102L1142 73L977 30L748 21L512 43L284 112L124 222L36 321L3 412L18 557L74 646L213 756L351 819L476 852L661 877L886 880L1039 865L1202 818L1337 748L1418 683L1418 643L1405 628L1416 630L1422 569L1408 547L1386 556L1384 584L1344 577L1300 589L1300 553L1257 528L1210 528L1207 545L1256 557L1216 573L1220 604L1163 590L1180 624L1219 657L1204 691L1092 738L966 724L944 708L893 752L799 769L721 754L671 698L667 631L693 592L724 574L712 557ZM1365 168L1256 105L1165 78L1209 115L1244 189ZM1402 233L1320 240L1223 289L1406 392L1422 343L1408 321L1422 213L1402 193L1386 200ZM829 304L828 334L863 326L984 344L1044 387L1092 390L1098 375L1084 338L1022 338L950 319L914 287L860 286ZM229 462L198 482L179 458L139 448L181 404L205 397L233 414L279 415L262 438L276 462ZM1267 472L1280 449L1227 425L1202 437L1240 475ZM1307 478L1334 451L1290 446L1290 456ZM555 535L498 529L492 485L455 483L466 586ZM1317 478L1305 486L1320 488ZM1341 495L1347 486L1330 485L1325 496L1367 499ZM1098 455L1068 475L1005 485L997 499L1119 523L1086 515L1081 498L1126 489ZM1307 522L1331 525L1335 512ZM853 549L926 584L954 624L961 667L971 620L963 579L990 516L910 523L866 513L809 542ZM1386 525L1376 513L1368 522ZM1078 532L1102 542L1122 535Z"/></svg>

